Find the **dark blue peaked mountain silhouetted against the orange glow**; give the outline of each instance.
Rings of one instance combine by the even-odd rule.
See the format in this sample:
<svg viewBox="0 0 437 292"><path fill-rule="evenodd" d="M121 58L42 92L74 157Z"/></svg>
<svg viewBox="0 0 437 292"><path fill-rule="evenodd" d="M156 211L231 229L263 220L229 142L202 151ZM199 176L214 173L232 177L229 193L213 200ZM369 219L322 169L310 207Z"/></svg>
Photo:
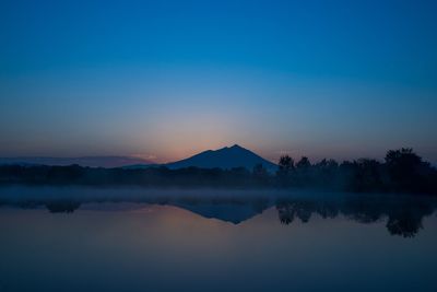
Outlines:
<svg viewBox="0 0 437 292"><path fill-rule="evenodd" d="M274 163L237 144L218 150L208 150L181 161L167 163L165 166L170 170L196 166L200 168L218 167L224 170L246 167L251 171L257 164L262 164L269 172L274 172L277 168Z"/></svg>

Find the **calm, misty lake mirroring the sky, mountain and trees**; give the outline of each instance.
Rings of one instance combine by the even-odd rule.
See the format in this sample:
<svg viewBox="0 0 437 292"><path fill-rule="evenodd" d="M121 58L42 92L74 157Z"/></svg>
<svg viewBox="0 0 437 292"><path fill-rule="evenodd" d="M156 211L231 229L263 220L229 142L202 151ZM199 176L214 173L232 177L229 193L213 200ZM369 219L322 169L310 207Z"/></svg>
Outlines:
<svg viewBox="0 0 437 292"><path fill-rule="evenodd" d="M0 291L437 291L437 201L0 188Z"/></svg>

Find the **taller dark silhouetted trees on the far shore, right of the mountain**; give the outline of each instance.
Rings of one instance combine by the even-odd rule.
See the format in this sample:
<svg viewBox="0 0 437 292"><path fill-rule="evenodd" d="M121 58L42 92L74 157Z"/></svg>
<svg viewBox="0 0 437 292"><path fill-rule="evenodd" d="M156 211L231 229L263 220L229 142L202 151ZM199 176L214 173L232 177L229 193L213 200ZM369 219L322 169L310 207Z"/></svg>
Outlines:
<svg viewBox="0 0 437 292"><path fill-rule="evenodd" d="M411 148L390 150L383 162L359 159L339 164L322 160L297 163L287 155L279 163L277 178L285 186L318 186L347 191L399 191L437 194L437 170Z"/></svg>

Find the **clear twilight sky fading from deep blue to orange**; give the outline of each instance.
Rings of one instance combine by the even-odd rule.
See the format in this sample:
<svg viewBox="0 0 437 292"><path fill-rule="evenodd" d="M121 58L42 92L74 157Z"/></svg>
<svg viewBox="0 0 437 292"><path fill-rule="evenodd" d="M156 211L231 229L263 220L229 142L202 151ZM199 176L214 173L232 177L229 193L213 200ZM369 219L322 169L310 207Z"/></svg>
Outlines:
<svg viewBox="0 0 437 292"><path fill-rule="evenodd" d="M0 156L437 163L437 1L0 2Z"/></svg>

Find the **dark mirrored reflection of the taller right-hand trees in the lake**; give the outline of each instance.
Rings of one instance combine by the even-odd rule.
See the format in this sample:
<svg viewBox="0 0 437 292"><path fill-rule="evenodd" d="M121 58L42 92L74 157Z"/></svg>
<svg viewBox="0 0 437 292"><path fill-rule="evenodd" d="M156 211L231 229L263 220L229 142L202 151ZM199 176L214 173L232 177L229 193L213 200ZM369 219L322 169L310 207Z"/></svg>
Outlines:
<svg viewBox="0 0 437 292"><path fill-rule="evenodd" d="M423 229L423 218L434 212L435 205L433 201L416 198L397 198L392 201L356 197L345 201L280 200L276 202L276 210L282 224L291 224L295 218L306 223L312 213L323 219L343 214L350 220L364 224L388 218L386 226L390 234L413 237Z"/></svg>

